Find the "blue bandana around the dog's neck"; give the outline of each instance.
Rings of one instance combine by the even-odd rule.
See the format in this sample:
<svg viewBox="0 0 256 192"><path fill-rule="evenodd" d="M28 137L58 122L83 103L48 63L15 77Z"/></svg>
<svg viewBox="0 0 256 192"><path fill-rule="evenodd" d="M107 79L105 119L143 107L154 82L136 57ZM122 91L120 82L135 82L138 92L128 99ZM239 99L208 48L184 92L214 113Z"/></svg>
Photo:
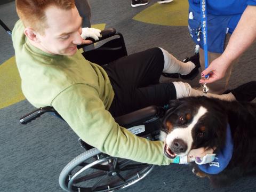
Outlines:
<svg viewBox="0 0 256 192"><path fill-rule="evenodd" d="M208 174L218 174L223 171L229 164L233 154L233 140L229 124L227 125L225 146L216 154L214 160L210 163L198 165L199 169Z"/></svg>

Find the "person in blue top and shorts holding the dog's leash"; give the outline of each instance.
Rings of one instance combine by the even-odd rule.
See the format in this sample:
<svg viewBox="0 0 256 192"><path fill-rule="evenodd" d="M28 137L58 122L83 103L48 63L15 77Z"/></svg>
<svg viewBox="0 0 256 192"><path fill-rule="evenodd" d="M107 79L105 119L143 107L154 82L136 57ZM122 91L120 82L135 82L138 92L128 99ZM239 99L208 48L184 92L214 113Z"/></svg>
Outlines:
<svg viewBox="0 0 256 192"><path fill-rule="evenodd" d="M189 33L198 44L196 30L201 26L200 0L189 2ZM209 67L204 69L203 41L199 57L203 69L200 83L210 83L209 92L221 94L231 68L256 38L256 0L207 0L207 45ZM201 35L202 36L202 35ZM202 39L202 37L201 37ZM209 79L204 76L210 73Z"/></svg>

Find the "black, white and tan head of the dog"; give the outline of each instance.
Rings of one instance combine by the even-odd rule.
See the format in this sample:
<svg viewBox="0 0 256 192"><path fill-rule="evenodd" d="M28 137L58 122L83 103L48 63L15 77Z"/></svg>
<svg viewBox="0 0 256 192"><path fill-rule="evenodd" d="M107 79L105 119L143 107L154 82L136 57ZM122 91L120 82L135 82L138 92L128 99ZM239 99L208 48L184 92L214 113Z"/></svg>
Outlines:
<svg viewBox="0 0 256 192"><path fill-rule="evenodd" d="M191 97L170 101L162 122L161 139L168 158L188 155L200 147L225 144L227 115L217 99Z"/></svg>

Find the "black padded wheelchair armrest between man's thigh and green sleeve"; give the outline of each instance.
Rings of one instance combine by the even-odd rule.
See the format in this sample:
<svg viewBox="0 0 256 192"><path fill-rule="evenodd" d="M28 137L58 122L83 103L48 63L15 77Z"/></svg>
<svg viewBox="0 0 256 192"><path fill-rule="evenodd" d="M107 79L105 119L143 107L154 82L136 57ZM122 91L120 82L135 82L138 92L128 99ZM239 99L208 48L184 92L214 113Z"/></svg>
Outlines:
<svg viewBox="0 0 256 192"><path fill-rule="evenodd" d="M146 123L153 121L164 114L164 109L157 106L145 107L132 113L125 114L115 118L115 121L121 126L129 126L136 123Z"/></svg>

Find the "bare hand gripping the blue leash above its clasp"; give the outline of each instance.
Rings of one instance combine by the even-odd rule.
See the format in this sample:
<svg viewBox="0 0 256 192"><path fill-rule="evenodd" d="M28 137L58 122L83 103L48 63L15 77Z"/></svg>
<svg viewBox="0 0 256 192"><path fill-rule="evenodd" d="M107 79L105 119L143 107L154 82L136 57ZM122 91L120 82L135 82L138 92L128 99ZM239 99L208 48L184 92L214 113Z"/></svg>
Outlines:
<svg viewBox="0 0 256 192"><path fill-rule="evenodd" d="M226 59L223 55L214 59L209 67L202 71L199 83L212 83L225 76L226 70L229 67L231 61ZM205 79L204 76L209 74L209 79Z"/></svg>

